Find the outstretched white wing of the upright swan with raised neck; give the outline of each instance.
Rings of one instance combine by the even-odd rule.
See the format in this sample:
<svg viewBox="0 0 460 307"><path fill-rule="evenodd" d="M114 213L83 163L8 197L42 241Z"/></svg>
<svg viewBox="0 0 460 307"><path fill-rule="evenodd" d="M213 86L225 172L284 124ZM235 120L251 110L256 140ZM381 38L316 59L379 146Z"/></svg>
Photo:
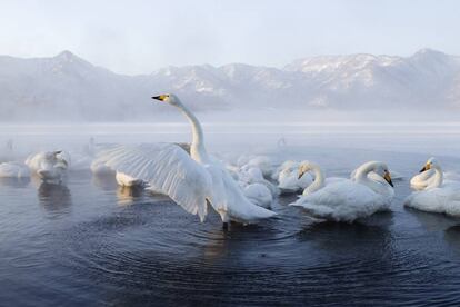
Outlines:
<svg viewBox="0 0 460 307"><path fill-rule="evenodd" d="M207 198L211 195L211 177L179 146L116 146L101 151L97 159L113 170L148 181L188 212L204 220Z"/></svg>

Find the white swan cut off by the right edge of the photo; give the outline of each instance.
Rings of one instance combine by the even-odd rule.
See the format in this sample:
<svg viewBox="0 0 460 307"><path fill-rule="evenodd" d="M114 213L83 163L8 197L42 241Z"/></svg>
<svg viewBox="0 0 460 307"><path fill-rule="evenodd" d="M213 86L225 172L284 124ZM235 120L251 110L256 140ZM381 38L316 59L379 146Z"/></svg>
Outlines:
<svg viewBox="0 0 460 307"><path fill-rule="evenodd" d="M424 187L418 186L404 200L404 206L422 211L460 216L460 181L444 180L441 165L436 158L430 158L421 174L433 174L424 180ZM420 179L420 177L419 177Z"/></svg>

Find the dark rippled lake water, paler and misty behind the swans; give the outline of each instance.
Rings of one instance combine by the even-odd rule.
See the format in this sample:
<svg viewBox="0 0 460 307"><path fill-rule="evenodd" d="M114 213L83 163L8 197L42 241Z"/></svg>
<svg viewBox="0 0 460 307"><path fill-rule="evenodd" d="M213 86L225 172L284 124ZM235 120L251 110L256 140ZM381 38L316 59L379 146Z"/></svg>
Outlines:
<svg viewBox="0 0 460 307"><path fill-rule="evenodd" d="M3 126L18 152L100 142L187 141L187 125ZM402 127L402 128L401 128ZM200 224L167 197L123 190L114 178L72 171L66 185L0 181L0 305L460 305L460 219L402 207L409 178L436 155L460 174L460 126L283 123L204 126L224 159L309 159L328 176L383 160L390 212L314 224L296 197L279 218Z"/></svg>

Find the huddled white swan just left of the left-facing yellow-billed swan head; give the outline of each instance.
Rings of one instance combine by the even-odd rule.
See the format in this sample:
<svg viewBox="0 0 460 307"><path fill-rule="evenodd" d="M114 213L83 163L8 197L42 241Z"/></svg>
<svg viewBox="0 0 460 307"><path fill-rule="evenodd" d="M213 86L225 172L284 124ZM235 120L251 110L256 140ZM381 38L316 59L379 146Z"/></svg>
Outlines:
<svg viewBox="0 0 460 307"><path fill-rule="evenodd" d="M299 162L284 161L274 172L272 178L278 181L281 194L296 194L306 189L313 179L309 174L298 176Z"/></svg>

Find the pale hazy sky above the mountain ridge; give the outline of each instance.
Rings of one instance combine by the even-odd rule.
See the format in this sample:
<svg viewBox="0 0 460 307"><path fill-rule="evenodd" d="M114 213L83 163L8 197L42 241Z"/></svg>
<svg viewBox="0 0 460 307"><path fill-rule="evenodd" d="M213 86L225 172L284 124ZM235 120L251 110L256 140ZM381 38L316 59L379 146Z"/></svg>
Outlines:
<svg viewBox="0 0 460 307"><path fill-rule="evenodd" d="M0 0L0 55L70 50L130 75L168 65L409 56L427 47L460 55L460 1Z"/></svg>

